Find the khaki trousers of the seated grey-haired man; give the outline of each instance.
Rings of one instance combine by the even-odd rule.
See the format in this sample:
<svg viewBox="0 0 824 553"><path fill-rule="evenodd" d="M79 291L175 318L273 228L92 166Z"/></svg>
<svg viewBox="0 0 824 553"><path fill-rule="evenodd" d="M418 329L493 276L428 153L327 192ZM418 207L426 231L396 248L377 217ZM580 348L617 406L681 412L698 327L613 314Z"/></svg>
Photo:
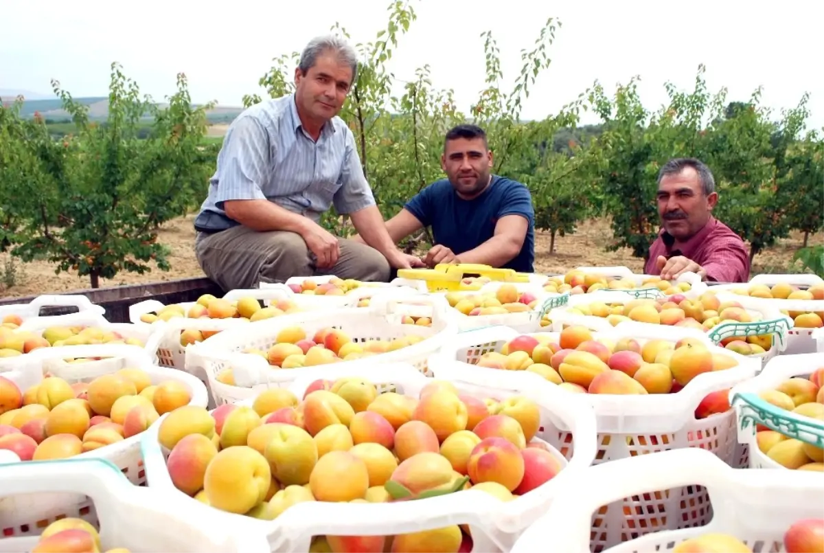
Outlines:
<svg viewBox="0 0 824 553"><path fill-rule="evenodd" d="M200 232L194 249L200 268L226 291L316 274L373 282L389 280L389 263L379 251L344 238L338 241L340 256L329 269L316 269L315 256L295 232L255 232L238 225L213 234Z"/></svg>

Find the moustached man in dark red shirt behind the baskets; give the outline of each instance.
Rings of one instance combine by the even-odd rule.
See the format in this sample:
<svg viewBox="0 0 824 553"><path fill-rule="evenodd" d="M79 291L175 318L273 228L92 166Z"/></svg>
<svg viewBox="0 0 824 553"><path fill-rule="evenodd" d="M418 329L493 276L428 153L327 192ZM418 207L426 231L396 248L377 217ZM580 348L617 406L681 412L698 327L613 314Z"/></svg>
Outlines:
<svg viewBox="0 0 824 553"><path fill-rule="evenodd" d="M693 272L714 282L747 282L747 247L741 237L712 216L718 199L713 174L699 160L677 158L661 167L658 213L663 228L649 247L646 274L672 280Z"/></svg>

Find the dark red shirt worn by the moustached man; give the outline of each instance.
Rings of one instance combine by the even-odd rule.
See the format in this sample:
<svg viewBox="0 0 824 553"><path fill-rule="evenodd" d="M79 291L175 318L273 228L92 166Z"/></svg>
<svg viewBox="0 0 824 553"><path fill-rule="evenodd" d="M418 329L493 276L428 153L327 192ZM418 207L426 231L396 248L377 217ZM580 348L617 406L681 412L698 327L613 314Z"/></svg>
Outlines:
<svg viewBox="0 0 824 553"><path fill-rule="evenodd" d="M667 259L683 255L695 261L706 271L706 279L714 282L742 283L750 279L750 256L744 241L718 219L709 222L694 237L676 247L675 238L661 229L658 238L649 246L646 274L658 274L658 255Z"/></svg>

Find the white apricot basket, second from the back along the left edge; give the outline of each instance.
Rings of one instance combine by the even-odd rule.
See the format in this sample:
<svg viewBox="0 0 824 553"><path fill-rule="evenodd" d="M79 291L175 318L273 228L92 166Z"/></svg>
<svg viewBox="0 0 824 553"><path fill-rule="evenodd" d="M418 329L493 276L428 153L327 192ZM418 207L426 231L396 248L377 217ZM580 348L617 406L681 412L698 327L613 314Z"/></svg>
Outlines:
<svg viewBox="0 0 824 553"><path fill-rule="evenodd" d="M159 324L153 327L137 326L132 325L130 323L109 322L106 321L100 315L91 315L89 313L72 313L70 315L60 315L55 317L36 317L34 319L30 319L24 322L18 330L29 331L34 335L40 336L43 335L44 330L53 326L95 326L104 331L115 332L122 339L132 338L135 340L139 340L140 343L143 344L142 349L146 351L146 353L151 357L151 359L157 359L157 348L160 345L160 342L163 337L163 332L165 330L164 325L165 323L162 323L161 321ZM72 348L78 348L80 346L70 345L65 347L68 348L69 351L76 351ZM25 367L26 359L28 359L30 355L35 354L35 352L41 351L43 349L50 348L35 349L28 354L18 355L16 357L5 357L0 359L0 373L2 373L3 371L10 371L12 369L19 367ZM79 354L68 354L66 355L66 358L68 359L74 356L79 356Z"/></svg>

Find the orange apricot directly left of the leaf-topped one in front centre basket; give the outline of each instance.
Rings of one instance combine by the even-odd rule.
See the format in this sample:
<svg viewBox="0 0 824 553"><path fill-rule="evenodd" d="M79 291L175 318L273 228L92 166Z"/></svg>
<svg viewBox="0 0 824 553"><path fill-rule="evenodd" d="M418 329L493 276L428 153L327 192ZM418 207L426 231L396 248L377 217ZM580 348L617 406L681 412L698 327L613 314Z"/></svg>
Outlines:
<svg viewBox="0 0 824 553"><path fill-rule="evenodd" d="M318 459L309 478L309 489L318 501L363 499L368 488L366 463L351 452L327 453Z"/></svg>

